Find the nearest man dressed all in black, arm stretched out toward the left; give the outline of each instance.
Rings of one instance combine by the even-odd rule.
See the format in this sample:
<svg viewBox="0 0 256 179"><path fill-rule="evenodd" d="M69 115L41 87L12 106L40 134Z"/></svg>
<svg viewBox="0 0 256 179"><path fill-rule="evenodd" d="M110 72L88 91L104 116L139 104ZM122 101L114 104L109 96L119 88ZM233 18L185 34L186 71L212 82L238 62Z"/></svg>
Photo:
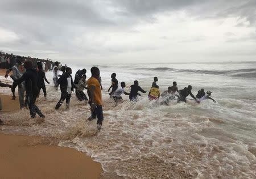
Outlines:
<svg viewBox="0 0 256 179"><path fill-rule="evenodd" d="M39 110L38 106L35 105L36 97L39 94L38 73L36 72L36 69L33 69L33 63L30 60L24 62L24 68L26 69L26 72L22 75L21 78L15 79L15 82L25 82L26 96L31 118L35 118L36 113L38 113L40 117L45 118L46 116L44 116Z"/></svg>

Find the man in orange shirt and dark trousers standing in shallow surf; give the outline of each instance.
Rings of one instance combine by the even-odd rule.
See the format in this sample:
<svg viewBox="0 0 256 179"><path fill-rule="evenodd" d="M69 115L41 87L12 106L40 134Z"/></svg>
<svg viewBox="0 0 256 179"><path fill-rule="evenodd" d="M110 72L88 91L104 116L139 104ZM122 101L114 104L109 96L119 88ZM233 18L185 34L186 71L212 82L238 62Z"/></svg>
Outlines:
<svg viewBox="0 0 256 179"><path fill-rule="evenodd" d="M101 85L98 82L98 77L100 76L100 70L97 67L92 67L90 69L92 73L92 77L88 79L88 96L89 96L89 104L90 110L92 112L92 116L88 118L88 121L92 121L98 118L97 120L97 128L98 130L101 129L102 121L104 120L103 117L103 109L102 109L102 101L101 101Z"/></svg>

